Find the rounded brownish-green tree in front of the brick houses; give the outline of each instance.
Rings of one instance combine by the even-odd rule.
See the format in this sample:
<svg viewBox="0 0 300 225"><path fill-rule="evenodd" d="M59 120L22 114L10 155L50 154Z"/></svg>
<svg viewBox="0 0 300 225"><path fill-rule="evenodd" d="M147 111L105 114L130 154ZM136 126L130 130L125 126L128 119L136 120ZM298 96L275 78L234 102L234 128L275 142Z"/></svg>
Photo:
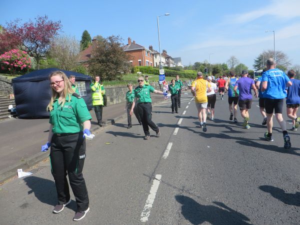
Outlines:
<svg viewBox="0 0 300 225"><path fill-rule="evenodd" d="M88 60L88 70L92 75L99 75L102 80L115 80L121 77L129 66L130 56L122 47L119 36L108 36L102 41L96 40L92 57Z"/></svg>

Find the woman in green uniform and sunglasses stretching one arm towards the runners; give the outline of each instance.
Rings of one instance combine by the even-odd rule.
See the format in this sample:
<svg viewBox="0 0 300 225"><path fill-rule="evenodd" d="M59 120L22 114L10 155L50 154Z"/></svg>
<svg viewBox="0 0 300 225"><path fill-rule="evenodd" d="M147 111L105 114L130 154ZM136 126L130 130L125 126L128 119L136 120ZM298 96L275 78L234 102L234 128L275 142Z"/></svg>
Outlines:
<svg viewBox="0 0 300 225"><path fill-rule="evenodd" d="M160 136L159 128L151 120L152 118L152 105L150 92L167 95L167 93L160 90L155 90L151 85L144 85L143 76L138 77L138 86L134 89L134 101L132 102L130 115L132 115L133 108L135 106L135 101L137 102L137 113L140 117L143 131L145 133L144 139L147 140L150 137L149 126L152 130L156 132L156 136Z"/></svg>

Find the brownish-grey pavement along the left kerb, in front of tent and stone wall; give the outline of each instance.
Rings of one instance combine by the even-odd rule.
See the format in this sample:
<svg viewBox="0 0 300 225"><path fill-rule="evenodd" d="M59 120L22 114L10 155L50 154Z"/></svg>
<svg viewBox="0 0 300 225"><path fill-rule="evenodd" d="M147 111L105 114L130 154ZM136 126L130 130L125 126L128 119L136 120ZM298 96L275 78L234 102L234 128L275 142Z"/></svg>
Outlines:
<svg viewBox="0 0 300 225"><path fill-rule="evenodd" d="M184 91L182 91L184 92ZM152 94L152 105L164 101L161 95ZM97 125L94 110L91 132L97 133L105 127L127 117L124 111L125 102L103 107L102 127ZM0 183L13 177L18 168L23 171L30 169L38 162L46 159L48 154L40 151L40 146L48 138L49 119L18 119L11 118L0 121ZM124 124L124 126L127 124Z"/></svg>

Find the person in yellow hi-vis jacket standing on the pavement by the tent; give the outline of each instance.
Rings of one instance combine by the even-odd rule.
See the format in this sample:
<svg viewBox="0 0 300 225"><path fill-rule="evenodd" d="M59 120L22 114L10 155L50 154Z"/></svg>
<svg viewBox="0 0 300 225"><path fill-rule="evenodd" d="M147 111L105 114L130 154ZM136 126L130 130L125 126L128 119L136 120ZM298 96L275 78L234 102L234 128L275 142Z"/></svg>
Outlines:
<svg viewBox="0 0 300 225"><path fill-rule="evenodd" d="M95 76L95 81L90 84L90 89L92 91L92 105L94 106L95 114L98 120L98 125L102 126L102 110L103 110L103 95L105 94L105 89L103 84L99 82L100 76Z"/></svg>

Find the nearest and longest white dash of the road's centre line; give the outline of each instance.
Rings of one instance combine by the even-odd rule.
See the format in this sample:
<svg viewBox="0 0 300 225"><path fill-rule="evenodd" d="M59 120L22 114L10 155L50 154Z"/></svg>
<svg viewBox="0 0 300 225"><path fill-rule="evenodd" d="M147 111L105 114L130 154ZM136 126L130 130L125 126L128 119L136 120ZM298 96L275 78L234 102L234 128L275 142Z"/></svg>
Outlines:
<svg viewBox="0 0 300 225"><path fill-rule="evenodd" d="M161 175L160 174L156 174L155 175L155 179L153 179L153 183L150 189L150 193L147 197L145 206L140 214L140 221L145 222L148 220L148 217L150 215L150 210L152 208L152 204L154 202L155 199L155 195L158 189L158 185L160 183L160 179L161 179Z"/></svg>

